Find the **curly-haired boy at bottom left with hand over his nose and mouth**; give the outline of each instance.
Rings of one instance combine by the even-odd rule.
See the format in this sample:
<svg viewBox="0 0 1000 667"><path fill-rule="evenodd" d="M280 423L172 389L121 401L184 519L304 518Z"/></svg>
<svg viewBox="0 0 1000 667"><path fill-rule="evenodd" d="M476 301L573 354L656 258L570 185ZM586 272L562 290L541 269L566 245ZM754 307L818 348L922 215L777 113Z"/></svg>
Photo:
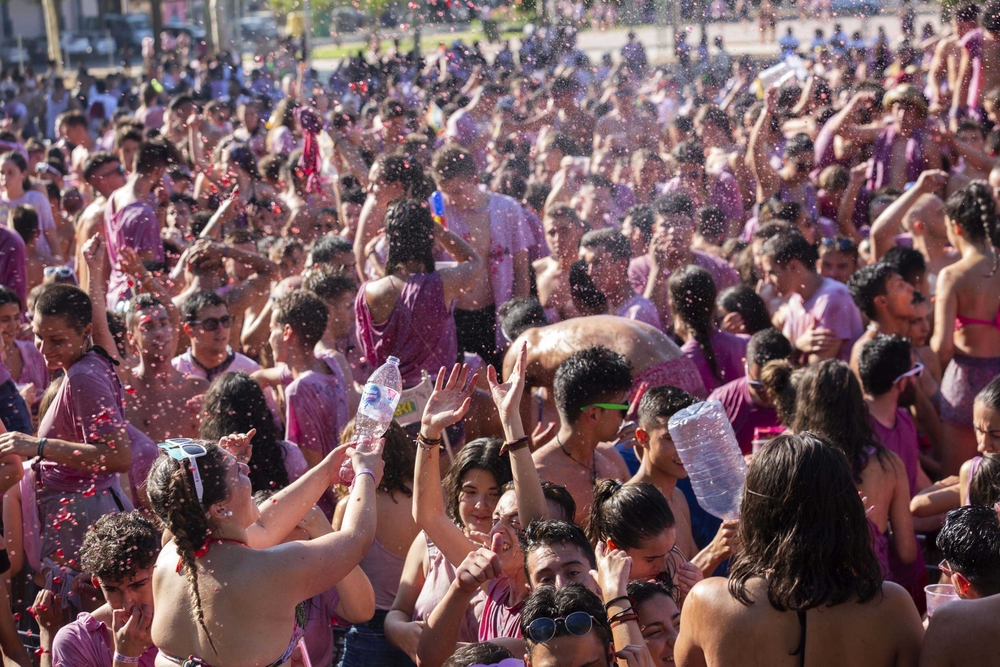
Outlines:
<svg viewBox="0 0 1000 667"><path fill-rule="evenodd" d="M159 553L160 533L140 512L97 520L83 541L80 560L107 602L59 630L51 641L52 667L111 667L136 659L139 667L153 667L157 650L149 628ZM119 633L111 630L115 616L125 626ZM42 648L48 649L48 630L39 626Z"/></svg>

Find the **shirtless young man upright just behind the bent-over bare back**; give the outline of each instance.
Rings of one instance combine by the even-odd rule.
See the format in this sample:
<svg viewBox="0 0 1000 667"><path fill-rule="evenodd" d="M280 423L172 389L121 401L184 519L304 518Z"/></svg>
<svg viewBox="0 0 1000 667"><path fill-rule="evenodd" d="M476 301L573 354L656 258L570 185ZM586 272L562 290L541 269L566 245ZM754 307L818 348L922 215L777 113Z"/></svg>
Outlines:
<svg viewBox="0 0 1000 667"><path fill-rule="evenodd" d="M555 312L560 320L580 315L569 291L569 272L580 254L580 239L587 225L576 215L573 207L557 204L542 218L545 244L552 254L535 260L535 282L538 300L549 313Z"/></svg>

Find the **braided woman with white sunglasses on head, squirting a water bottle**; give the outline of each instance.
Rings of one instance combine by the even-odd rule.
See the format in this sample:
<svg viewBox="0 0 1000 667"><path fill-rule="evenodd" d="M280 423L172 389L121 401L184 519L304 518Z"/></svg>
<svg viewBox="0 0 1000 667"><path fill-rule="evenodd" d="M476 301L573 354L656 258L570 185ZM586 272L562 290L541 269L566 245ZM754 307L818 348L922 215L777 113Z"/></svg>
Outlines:
<svg viewBox="0 0 1000 667"><path fill-rule="evenodd" d="M247 435L227 447L238 449L240 440ZM262 510L246 464L220 446L175 440L160 448L149 499L171 539L153 576L157 667L289 665L302 637L299 603L335 586L371 547L382 443L370 453L338 447ZM341 529L281 543L337 483L346 459L355 480Z"/></svg>

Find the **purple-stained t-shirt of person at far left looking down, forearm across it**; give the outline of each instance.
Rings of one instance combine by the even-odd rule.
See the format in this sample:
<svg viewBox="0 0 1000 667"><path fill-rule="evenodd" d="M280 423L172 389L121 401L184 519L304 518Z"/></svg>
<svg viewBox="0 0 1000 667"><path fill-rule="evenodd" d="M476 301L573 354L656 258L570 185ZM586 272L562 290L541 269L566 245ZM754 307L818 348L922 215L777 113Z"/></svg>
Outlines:
<svg viewBox="0 0 1000 667"><path fill-rule="evenodd" d="M125 428L125 393L111 362L93 350L87 352L66 372L52 404L38 425L38 436L69 442L95 442ZM55 461L42 461L45 486L82 493L113 486L118 474L85 472Z"/></svg>

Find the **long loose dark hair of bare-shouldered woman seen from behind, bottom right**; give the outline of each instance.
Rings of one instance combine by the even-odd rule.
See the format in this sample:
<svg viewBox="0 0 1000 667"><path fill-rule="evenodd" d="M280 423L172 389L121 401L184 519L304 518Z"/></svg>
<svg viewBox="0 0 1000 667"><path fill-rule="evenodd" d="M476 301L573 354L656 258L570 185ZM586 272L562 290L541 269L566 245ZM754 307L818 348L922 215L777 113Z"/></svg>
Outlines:
<svg viewBox="0 0 1000 667"><path fill-rule="evenodd" d="M814 433L778 436L754 455L739 530L729 593L741 604L754 602L747 582L756 577L779 611L867 602L882 590L851 466Z"/></svg>

